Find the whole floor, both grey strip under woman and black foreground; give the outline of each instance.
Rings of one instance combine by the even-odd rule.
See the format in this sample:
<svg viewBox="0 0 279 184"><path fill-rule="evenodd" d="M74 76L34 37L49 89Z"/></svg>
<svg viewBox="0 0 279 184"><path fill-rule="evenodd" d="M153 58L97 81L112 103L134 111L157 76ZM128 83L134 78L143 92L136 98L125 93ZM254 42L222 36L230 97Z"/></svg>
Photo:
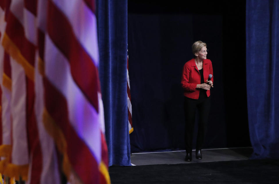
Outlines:
<svg viewBox="0 0 279 184"><path fill-rule="evenodd" d="M185 162L185 151L133 153L135 166L111 166L111 183L279 184L279 160L249 160L253 149L205 149Z"/></svg>

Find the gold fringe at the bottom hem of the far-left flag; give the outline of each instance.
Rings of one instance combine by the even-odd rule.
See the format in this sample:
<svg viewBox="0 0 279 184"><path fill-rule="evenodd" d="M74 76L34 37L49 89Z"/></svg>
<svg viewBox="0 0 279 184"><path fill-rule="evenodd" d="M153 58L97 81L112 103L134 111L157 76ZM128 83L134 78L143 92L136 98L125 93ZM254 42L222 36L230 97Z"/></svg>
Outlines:
<svg viewBox="0 0 279 184"><path fill-rule="evenodd" d="M6 176L10 178L15 177L15 180L19 180L21 176L22 180L27 181L28 179L28 164L26 165L15 165L9 163L4 171Z"/></svg>

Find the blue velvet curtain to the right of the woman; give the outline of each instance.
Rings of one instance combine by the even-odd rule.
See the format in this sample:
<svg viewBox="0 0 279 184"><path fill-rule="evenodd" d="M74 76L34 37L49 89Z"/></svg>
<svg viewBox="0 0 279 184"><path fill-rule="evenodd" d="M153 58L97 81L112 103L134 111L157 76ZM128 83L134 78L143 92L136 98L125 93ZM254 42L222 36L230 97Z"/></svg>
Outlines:
<svg viewBox="0 0 279 184"><path fill-rule="evenodd" d="M279 0L247 0L247 106L255 159L279 158L278 53ZM243 66L241 58L237 64Z"/></svg>

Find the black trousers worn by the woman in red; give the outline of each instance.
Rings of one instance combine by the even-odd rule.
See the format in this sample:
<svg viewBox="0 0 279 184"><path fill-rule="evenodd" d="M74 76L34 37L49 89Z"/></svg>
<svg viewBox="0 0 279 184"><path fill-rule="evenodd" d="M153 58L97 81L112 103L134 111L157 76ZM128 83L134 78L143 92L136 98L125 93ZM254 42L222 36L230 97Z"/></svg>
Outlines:
<svg viewBox="0 0 279 184"><path fill-rule="evenodd" d="M192 152L196 109L198 109L199 117L196 149L202 149L210 110L210 97L203 97L199 99L184 97L185 150L188 153Z"/></svg>

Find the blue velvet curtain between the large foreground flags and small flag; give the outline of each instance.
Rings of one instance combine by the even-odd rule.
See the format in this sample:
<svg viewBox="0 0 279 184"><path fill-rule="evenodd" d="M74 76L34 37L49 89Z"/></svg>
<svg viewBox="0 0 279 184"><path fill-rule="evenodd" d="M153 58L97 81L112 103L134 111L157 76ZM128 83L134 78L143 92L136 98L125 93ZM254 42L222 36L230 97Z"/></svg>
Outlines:
<svg viewBox="0 0 279 184"><path fill-rule="evenodd" d="M109 166L128 166L127 0L97 0L96 11Z"/></svg>

